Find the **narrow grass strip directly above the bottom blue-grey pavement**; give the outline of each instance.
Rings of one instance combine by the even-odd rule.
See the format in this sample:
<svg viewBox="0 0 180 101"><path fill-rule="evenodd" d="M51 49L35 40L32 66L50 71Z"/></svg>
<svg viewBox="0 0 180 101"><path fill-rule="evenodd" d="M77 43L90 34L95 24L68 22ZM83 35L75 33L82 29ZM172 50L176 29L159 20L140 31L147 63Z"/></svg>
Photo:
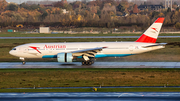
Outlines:
<svg viewBox="0 0 180 101"><path fill-rule="evenodd" d="M94 92L92 88L82 89L0 89L1 93L27 92ZM180 88L98 88L97 92L180 92Z"/></svg>

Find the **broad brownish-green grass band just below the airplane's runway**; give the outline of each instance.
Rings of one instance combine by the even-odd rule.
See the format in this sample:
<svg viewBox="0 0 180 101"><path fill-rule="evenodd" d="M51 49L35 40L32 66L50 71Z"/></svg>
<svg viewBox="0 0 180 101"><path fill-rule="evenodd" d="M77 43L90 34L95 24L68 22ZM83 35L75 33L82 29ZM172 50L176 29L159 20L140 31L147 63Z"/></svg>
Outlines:
<svg viewBox="0 0 180 101"><path fill-rule="evenodd" d="M0 69L1 88L180 86L180 69Z"/></svg>

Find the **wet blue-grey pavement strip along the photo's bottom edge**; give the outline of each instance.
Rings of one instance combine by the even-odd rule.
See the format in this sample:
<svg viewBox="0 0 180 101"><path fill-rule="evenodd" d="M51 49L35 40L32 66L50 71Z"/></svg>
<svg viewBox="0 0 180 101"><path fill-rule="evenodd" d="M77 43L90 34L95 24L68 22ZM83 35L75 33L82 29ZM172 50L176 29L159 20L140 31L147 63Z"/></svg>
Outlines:
<svg viewBox="0 0 180 101"><path fill-rule="evenodd" d="M2 101L179 101L179 92L0 93Z"/></svg>

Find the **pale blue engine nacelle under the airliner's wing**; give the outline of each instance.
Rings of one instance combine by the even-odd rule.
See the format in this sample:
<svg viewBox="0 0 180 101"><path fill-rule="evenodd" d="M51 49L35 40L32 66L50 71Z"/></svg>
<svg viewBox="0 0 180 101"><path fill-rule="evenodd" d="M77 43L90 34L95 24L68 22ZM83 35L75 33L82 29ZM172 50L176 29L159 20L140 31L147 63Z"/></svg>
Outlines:
<svg viewBox="0 0 180 101"><path fill-rule="evenodd" d="M58 53L57 54L57 61L58 62L72 62L73 56L72 53Z"/></svg>

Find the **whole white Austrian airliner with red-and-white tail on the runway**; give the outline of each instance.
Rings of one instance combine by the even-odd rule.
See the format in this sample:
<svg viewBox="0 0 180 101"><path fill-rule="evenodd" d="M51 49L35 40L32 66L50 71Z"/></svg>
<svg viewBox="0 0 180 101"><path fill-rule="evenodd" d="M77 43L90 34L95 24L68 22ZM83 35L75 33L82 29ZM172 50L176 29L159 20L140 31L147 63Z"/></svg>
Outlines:
<svg viewBox="0 0 180 101"><path fill-rule="evenodd" d="M156 43L163 17L159 17L135 42L65 42L28 43L14 47L9 53L19 57L22 64L28 58L56 58L60 63L81 59L82 65L92 65L95 58L124 57L165 48Z"/></svg>

